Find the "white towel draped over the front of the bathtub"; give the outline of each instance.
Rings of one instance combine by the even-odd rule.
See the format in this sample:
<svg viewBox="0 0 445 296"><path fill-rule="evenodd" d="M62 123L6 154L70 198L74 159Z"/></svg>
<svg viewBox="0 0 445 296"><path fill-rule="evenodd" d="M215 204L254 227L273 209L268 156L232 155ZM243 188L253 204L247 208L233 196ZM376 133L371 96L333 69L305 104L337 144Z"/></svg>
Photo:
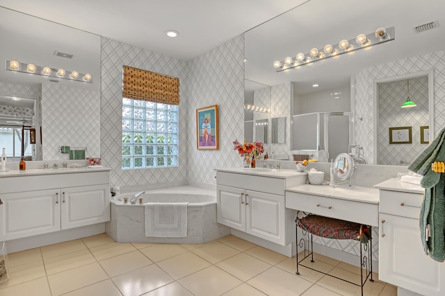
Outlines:
<svg viewBox="0 0 445 296"><path fill-rule="evenodd" d="M186 237L188 202L147 202L145 237Z"/></svg>

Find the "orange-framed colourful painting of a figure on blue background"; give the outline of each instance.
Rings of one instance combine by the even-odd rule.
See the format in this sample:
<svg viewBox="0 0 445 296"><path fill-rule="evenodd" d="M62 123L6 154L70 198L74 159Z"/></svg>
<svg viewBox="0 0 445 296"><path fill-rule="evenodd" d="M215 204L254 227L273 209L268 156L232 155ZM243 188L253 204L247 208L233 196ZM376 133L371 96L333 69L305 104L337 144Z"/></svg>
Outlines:
<svg viewBox="0 0 445 296"><path fill-rule="evenodd" d="M196 110L196 148L218 150L218 105Z"/></svg>

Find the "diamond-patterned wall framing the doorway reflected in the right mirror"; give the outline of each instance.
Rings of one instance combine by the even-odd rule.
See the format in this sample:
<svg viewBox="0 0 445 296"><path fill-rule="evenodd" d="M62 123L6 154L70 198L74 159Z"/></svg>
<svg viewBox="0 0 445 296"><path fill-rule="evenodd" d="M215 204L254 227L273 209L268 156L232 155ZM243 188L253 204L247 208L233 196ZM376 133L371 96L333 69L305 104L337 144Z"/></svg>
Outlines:
<svg viewBox="0 0 445 296"><path fill-rule="evenodd" d="M437 51L425 55L378 64L352 76L354 91L351 92L352 106L355 116L355 143L364 146L364 155L369 162L374 161L373 148L373 82L379 78L405 75L434 69L434 116L435 136L445 128L445 51ZM363 120L358 120L362 118Z"/></svg>

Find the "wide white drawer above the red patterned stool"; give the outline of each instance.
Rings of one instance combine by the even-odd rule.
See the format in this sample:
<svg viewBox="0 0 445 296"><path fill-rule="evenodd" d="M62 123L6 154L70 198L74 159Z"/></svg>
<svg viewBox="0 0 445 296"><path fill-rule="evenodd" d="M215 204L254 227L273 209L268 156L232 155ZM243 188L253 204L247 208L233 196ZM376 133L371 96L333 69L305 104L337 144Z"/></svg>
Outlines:
<svg viewBox="0 0 445 296"><path fill-rule="evenodd" d="M286 208L378 226L378 204L286 191Z"/></svg>

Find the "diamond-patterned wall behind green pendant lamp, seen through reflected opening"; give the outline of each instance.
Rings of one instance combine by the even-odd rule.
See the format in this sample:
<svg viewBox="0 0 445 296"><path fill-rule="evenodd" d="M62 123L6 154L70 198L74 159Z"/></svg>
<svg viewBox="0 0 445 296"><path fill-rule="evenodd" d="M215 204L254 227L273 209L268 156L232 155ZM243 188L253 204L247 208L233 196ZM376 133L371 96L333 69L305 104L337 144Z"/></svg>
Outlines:
<svg viewBox="0 0 445 296"><path fill-rule="evenodd" d="M428 144L420 143L420 127L429 124L428 76L410 78L410 98L416 107L401 108L407 98L407 80L378 83L378 164L406 166ZM390 144L389 128L410 126L412 143Z"/></svg>

